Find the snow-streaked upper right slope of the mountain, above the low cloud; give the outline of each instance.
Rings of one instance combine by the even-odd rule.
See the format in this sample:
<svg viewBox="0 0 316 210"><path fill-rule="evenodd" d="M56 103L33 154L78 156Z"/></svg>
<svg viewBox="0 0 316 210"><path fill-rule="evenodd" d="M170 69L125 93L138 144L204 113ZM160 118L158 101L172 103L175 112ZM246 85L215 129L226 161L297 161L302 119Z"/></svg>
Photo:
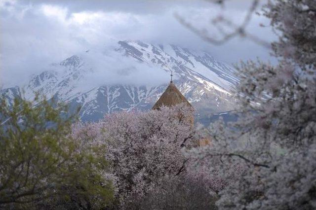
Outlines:
<svg viewBox="0 0 316 210"><path fill-rule="evenodd" d="M217 62L206 53L194 53L174 45L148 45L140 41L119 41L118 50L135 59L160 65L165 70L172 69L185 80L206 82L209 88L228 93L237 84L234 70Z"/></svg>

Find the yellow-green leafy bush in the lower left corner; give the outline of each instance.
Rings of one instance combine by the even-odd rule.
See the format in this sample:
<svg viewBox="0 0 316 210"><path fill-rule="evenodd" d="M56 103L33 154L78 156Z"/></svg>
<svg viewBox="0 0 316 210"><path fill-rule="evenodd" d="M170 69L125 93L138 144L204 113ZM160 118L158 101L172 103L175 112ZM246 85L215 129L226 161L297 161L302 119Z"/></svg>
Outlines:
<svg viewBox="0 0 316 210"><path fill-rule="evenodd" d="M104 148L75 140L76 117L64 113L65 105L38 95L12 106L0 98L0 208L100 209L111 202Z"/></svg>

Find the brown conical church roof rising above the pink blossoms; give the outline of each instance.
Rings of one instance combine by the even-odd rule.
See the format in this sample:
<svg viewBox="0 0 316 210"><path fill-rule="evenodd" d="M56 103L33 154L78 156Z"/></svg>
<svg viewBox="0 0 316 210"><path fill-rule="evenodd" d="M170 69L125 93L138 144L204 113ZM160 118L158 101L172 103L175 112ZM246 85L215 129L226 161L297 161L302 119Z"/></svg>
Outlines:
<svg viewBox="0 0 316 210"><path fill-rule="evenodd" d="M156 104L153 106L153 109L158 109L162 105L164 106L172 106L185 103L189 106L192 106L188 100L181 94L178 88L171 81L167 89L163 92L161 97L158 99Z"/></svg>

